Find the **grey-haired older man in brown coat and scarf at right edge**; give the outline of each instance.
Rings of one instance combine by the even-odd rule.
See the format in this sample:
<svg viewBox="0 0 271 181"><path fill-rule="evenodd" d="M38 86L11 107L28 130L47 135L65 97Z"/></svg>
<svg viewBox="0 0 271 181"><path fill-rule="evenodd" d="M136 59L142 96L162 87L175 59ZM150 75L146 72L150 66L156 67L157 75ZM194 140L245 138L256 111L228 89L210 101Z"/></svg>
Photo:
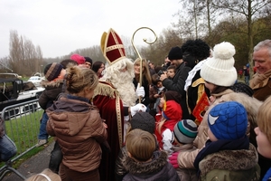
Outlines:
<svg viewBox="0 0 271 181"><path fill-rule="evenodd" d="M265 40L254 47L253 61L257 69L249 86L254 90L253 97L266 100L271 95L271 40Z"/></svg>

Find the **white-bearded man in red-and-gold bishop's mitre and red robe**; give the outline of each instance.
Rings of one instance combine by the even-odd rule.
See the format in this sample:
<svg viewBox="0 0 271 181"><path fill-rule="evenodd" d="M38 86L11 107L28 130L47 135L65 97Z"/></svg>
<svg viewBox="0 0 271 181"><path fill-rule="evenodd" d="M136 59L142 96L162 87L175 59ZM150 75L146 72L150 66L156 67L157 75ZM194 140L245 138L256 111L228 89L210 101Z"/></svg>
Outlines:
<svg viewBox="0 0 271 181"><path fill-rule="evenodd" d="M118 34L109 29L101 38L101 49L107 59L103 77L94 92L93 103L107 124L107 142L110 153L103 150L99 167L100 180L115 180L115 161L126 135L129 113L145 111L145 105L136 104L136 96L145 96L144 88L136 89L134 63L126 58L125 49Z"/></svg>

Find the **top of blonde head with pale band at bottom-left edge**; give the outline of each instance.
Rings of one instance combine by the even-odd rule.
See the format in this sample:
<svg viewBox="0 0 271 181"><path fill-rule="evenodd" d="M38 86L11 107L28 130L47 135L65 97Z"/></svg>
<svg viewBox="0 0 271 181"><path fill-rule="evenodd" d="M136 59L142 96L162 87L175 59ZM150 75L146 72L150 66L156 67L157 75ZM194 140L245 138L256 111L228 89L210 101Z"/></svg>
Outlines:
<svg viewBox="0 0 271 181"><path fill-rule="evenodd" d="M25 181L61 181L61 176L53 173L51 169L45 168L40 174L30 176Z"/></svg>

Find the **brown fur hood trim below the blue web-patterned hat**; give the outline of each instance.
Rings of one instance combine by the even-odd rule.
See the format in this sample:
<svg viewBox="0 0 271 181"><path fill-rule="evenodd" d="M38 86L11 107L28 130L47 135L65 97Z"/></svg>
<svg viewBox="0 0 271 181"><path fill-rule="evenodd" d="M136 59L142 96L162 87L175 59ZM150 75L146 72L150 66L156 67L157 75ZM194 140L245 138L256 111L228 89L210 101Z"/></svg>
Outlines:
<svg viewBox="0 0 271 181"><path fill-rule="evenodd" d="M257 165L257 150L249 144L249 149L222 150L204 157L199 167L201 176L205 176L213 169L248 170Z"/></svg>

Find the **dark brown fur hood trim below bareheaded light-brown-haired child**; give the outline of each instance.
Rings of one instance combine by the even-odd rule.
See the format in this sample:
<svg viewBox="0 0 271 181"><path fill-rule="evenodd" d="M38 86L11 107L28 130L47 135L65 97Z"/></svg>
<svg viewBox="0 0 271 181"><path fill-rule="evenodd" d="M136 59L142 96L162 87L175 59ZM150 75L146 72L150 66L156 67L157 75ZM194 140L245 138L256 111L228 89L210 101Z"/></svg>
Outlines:
<svg viewBox="0 0 271 181"><path fill-rule="evenodd" d="M162 170L167 163L167 154L164 151L154 151L152 161L138 163L134 159L126 157L124 167L131 174L151 174Z"/></svg>

